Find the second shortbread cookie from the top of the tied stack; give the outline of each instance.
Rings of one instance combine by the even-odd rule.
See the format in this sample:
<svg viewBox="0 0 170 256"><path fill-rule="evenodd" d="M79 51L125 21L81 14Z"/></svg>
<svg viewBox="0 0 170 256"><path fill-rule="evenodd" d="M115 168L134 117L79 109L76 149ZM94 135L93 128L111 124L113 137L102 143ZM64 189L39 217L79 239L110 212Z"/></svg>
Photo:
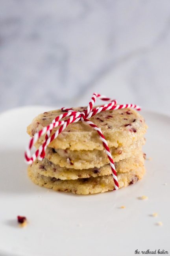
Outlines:
<svg viewBox="0 0 170 256"><path fill-rule="evenodd" d="M122 159L131 157L135 152L142 150L145 139L135 141L129 147L110 148L113 160L118 162ZM55 152L57 151L57 152ZM89 169L93 167L101 167L109 163L109 159L105 150L54 150L50 147L46 149L46 158L49 161L59 165L60 167L67 167L72 169Z"/></svg>

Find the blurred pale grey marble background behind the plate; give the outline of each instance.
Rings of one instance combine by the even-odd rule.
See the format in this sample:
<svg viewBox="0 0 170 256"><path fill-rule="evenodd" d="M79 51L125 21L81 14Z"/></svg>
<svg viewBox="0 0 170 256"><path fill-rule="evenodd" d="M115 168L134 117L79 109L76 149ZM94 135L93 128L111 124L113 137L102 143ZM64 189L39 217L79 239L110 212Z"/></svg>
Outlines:
<svg viewBox="0 0 170 256"><path fill-rule="evenodd" d="M169 0L0 0L0 111L94 91L169 114Z"/></svg>

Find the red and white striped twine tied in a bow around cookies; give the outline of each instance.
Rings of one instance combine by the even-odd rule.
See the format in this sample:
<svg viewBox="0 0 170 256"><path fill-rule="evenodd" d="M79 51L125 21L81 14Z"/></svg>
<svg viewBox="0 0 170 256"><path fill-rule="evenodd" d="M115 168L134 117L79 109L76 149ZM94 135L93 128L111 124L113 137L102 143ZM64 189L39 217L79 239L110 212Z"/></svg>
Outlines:
<svg viewBox="0 0 170 256"><path fill-rule="evenodd" d="M96 98L100 98L100 100L104 101L110 101L109 104L102 105L97 108L93 108L94 103L96 102ZM87 106L87 109L83 112L74 111L71 108L61 108L62 111L66 111L65 113L55 117L55 119L49 124L48 126L44 127L39 132L35 133L34 136L30 139L30 143L28 145L28 148L25 152L25 160L26 163L32 164L37 158L39 160L42 160L45 156L46 147L57 138L57 136L65 130L65 128L71 124L72 122L85 122L89 124L96 132L98 132L98 135L100 139L102 140L103 147L105 148L105 152L107 154L107 157L109 158L109 163L111 166L112 174L113 174L113 180L115 184L115 189L118 189L118 178L116 174L116 169L114 165L114 161L110 152L110 149L108 147L107 141L96 124L91 122L89 118L93 117L94 115L106 111L106 110L116 110L116 109L124 109L124 108L134 108L137 110L140 110L140 107L135 104L124 104L124 105L118 105L116 100L111 100L111 98L107 98L106 96L94 93L92 95L91 101L89 102L89 105ZM67 120L63 121L64 117L69 117ZM59 129L52 134L52 130L56 127L59 127ZM43 144L36 150L34 154L31 155L31 148L35 143L38 141L40 137L42 137L44 134L46 134Z"/></svg>

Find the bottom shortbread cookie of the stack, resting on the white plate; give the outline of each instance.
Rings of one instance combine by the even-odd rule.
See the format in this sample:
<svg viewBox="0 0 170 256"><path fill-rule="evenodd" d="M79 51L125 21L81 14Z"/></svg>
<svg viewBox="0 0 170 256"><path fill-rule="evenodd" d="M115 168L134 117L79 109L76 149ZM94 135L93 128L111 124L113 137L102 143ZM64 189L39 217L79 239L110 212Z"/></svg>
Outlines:
<svg viewBox="0 0 170 256"><path fill-rule="evenodd" d="M119 187L126 187L140 180L145 173L144 167L127 173L118 173ZM72 192L75 194L94 194L103 193L114 189L113 176L100 176L96 178L85 178L78 180L59 180L54 177L46 177L34 172L34 169L28 168L28 175L31 180L39 186L52 188L55 191Z"/></svg>

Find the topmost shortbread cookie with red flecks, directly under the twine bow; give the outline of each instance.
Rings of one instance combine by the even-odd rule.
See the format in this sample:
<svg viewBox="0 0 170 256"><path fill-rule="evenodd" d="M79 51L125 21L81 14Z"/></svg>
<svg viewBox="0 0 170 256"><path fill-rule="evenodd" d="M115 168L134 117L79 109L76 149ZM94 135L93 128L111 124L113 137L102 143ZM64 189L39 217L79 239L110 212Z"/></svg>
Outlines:
<svg viewBox="0 0 170 256"><path fill-rule="evenodd" d="M73 109L83 111L84 108ZM35 132L38 132L44 128L44 126L50 124L50 122L61 113L63 113L63 111L54 110L38 115L28 126L28 134L33 136ZM134 109L103 111L91 117L90 120L101 128L109 147L127 147L132 142L141 139L147 129L144 118ZM58 128L55 128L52 134L57 129ZM44 136L39 139L37 145L43 143ZM69 124L68 127L50 143L49 147L56 149L69 148L70 150L103 150L103 144L97 132L91 126L81 121Z"/></svg>

